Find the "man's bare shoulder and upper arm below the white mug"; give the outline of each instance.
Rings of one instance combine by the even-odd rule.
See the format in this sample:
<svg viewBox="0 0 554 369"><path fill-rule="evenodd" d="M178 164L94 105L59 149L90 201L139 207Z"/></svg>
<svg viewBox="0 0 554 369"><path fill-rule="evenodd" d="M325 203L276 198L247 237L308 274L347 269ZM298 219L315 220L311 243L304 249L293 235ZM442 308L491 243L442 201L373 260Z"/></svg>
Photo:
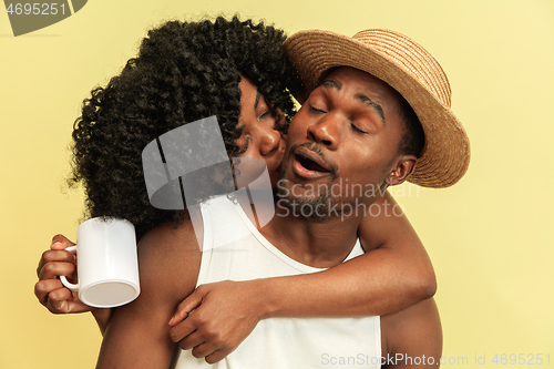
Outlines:
<svg viewBox="0 0 554 369"><path fill-rule="evenodd" d="M113 310L96 368L167 368L176 345L168 321L177 304L194 290L199 248L192 226L164 225L140 242L141 295ZM191 237L193 235L193 237Z"/></svg>

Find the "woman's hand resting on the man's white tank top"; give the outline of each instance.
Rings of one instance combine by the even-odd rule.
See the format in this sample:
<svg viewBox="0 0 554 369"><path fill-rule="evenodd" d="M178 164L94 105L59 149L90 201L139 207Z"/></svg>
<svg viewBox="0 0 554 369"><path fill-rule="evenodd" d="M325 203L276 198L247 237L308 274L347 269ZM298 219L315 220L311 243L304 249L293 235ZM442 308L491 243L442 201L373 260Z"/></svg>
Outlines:
<svg viewBox="0 0 554 369"><path fill-rule="evenodd" d="M198 286L170 320L172 340L208 363L222 360L264 317L264 295L257 286L256 280Z"/></svg>

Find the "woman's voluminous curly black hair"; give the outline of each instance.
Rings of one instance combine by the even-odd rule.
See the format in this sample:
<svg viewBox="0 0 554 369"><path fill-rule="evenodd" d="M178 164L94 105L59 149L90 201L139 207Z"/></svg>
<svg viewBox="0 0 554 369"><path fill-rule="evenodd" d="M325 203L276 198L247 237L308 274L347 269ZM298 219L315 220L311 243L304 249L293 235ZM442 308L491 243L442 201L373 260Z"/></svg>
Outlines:
<svg viewBox="0 0 554 369"><path fill-rule="evenodd" d="M170 21L148 31L138 55L105 88L91 92L74 123L69 184L83 184L85 216L129 219L137 237L184 219L186 212L150 204L143 148L179 125L216 115L227 152L235 154L240 74L288 122L294 103L287 88L297 80L281 51L285 39L281 30L237 17Z"/></svg>

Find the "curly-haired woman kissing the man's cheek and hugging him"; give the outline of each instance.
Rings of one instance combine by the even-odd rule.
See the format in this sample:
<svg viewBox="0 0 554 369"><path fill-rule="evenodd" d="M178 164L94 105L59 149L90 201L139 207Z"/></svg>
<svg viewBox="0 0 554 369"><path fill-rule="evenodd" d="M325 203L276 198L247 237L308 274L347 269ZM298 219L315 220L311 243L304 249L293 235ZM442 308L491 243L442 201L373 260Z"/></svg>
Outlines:
<svg viewBox="0 0 554 369"><path fill-rule="evenodd" d="M230 156L263 158L276 173L284 123L294 114L287 86L296 81L280 50L284 40L280 30L237 18L168 22L150 31L138 57L106 88L92 92L75 123L72 180L84 185L88 215L126 218L138 238L166 223L186 226L186 211L160 211L148 204L141 152L158 135L211 115L217 115ZM393 204L389 195L378 204L384 202ZM171 319L172 338L185 337L182 348L194 348L194 356L215 362L269 314L384 315L432 296L432 267L406 217L381 212L366 218L359 236L367 254L311 275L202 286ZM54 237L39 263L35 295L52 312L92 311L103 331L110 310L83 305L54 279L74 273L73 256L63 250L70 244Z"/></svg>

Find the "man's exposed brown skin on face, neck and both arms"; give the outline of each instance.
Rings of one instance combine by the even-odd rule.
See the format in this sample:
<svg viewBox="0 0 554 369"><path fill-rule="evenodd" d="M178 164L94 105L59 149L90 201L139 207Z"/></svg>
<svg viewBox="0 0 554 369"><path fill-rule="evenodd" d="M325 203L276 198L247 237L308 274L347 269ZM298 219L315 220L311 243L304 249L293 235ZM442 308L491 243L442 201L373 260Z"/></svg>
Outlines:
<svg viewBox="0 0 554 369"><path fill-rule="evenodd" d="M351 68L329 74L295 116L288 131L281 185L289 202L309 203L309 185L330 186L348 178L350 185L372 185L384 191L402 183L417 158L398 152L404 125L398 113L400 96L382 81ZM308 170L299 156L320 170ZM376 197L328 198L342 204L369 206ZM280 209L280 212L285 212ZM312 266L342 263L357 240L363 212L349 216L298 218L279 214L261 234L290 258ZM195 288L201 253L191 224L170 225L148 232L138 247L141 296L115 309L104 336L99 368L168 367L175 344L167 321L175 307ZM437 367L442 334L432 299L381 317L382 355L420 358L420 365L398 361L399 368ZM421 358L425 358L424 365ZM434 365L428 365L429 357Z"/></svg>

